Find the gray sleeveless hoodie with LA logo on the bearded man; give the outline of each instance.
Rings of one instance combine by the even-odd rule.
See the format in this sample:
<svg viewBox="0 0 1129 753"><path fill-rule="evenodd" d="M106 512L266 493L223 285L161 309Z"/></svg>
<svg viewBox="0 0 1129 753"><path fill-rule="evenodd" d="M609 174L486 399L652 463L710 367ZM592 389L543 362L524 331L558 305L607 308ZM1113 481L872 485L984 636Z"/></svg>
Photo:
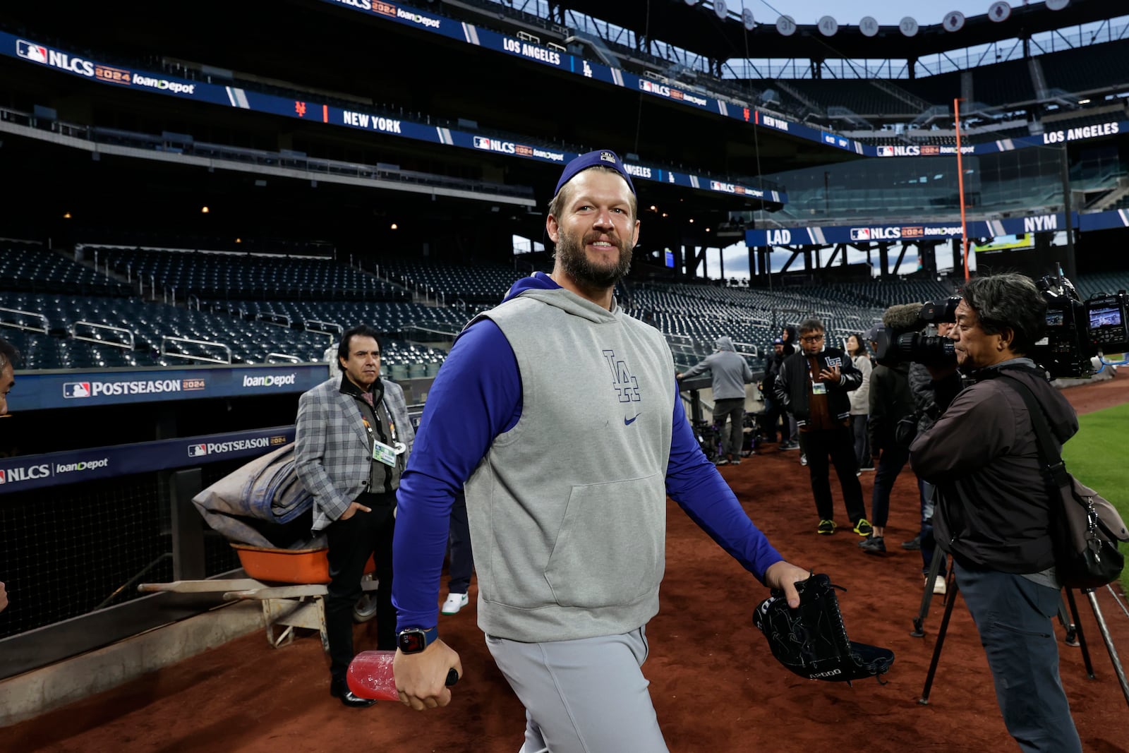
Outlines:
<svg viewBox="0 0 1129 753"><path fill-rule="evenodd" d="M465 485L479 627L540 642L645 624L666 567L666 341L564 289L526 290L481 316L517 357L522 415Z"/></svg>

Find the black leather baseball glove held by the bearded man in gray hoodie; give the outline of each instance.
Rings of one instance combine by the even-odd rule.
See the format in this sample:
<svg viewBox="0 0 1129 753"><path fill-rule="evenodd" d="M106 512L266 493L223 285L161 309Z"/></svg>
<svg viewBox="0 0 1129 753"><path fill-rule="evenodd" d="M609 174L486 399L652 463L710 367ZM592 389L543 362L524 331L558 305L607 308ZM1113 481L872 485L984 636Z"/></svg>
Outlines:
<svg viewBox="0 0 1129 753"><path fill-rule="evenodd" d="M755 624L769 639L772 656L800 677L847 682L875 677L890 671L894 653L855 643L839 612L835 586L823 575L796 584L799 606L788 608L784 592L773 588L753 613ZM879 680L881 682L881 680Z"/></svg>

